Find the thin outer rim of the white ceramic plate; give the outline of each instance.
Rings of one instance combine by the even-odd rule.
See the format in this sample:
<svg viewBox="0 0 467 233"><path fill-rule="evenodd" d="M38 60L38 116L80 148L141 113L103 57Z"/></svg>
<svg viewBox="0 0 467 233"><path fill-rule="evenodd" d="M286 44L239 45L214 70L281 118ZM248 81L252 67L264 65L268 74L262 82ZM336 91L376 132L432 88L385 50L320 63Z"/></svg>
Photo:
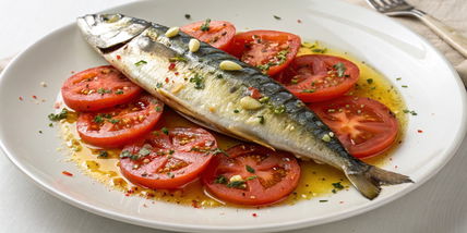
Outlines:
<svg viewBox="0 0 467 233"><path fill-rule="evenodd" d="M337 1L337 0L331 0L331 1L334 3L338 2L338 4L345 5L346 8L360 9L362 11L366 11L367 13L373 14L373 16L375 16L375 17L385 17L385 20L388 20L391 23L396 24L397 27L402 27L406 32L411 34L411 36L415 36L424 46L427 46L429 49L434 51L434 54L438 58L440 58L444 62L444 64L446 64L448 71L452 73L452 76L455 78L455 82L457 84L457 91L459 91L459 94L462 96L462 100L460 100L460 103L463 107L463 111L462 111L462 113L463 113L462 119L463 120L460 123L462 128L458 132L458 134L456 135L456 137L454 138L453 146L448 150L446 150L445 160L443 160L439 165L436 165L435 169L430 174L418 180L416 184L411 184L407 188L404 188L394 195L384 197L379 203L374 203L372 205L370 205L370 204L362 205L360 207L357 207L356 209L354 209L350 212L335 213L332 216L325 216L323 218L319 218L319 219L314 219L314 220L301 219L301 220L297 220L297 221L288 221L286 223L262 223L262 224L258 224L258 225L247 225L247 226L220 226L220 225L200 225L200 224L191 224L191 223L190 224L167 223L167 222L161 222L158 220L145 220L145 219L141 219L141 218L135 218L135 217L130 216L130 214L122 214L122 213L119 213L117 211L107 210L105 208L99 208L99 207L86 204L84 201L76 200L76 199L68 196L65 193L60 192L57 188L48 185L47 182L35 176L33 174L33 172L31 172L19 160L16 160L15 156L13 156L13 154L10 152L7 145L4 145L3 140L1 140L1 138L0 138L0 149L4 152L7 158L13 164L15 164L16 168L20 169L21 172L23 172L24 174L26 174L26 176L28 176L31 180L33 180L37 186L39 186L43 191L46 191L47 193L51 194L52 196L59 198L60 200L65 201L65 203L72 205L74 207L80 208L80 209L86 210L88 212L93 212L95 214L105 217L105 218L110 218L110 219L113 219L117 221L122 221L122 222L130 223L130 224L142 225L142 226L147 226L147 228L153 228L153 229L160 229L160 230L191 231L191 232L206 232L206 231L209 231L209 232L215 232L215 231L239 232L239 231L250 230L250 231L255 231L255 232L266 232L266 231L267 232L272 232L272 231L277 232L277 231L284 231L284 230L291 230L291 229L302 229L302 228L308 228L308 226L313 226L313 225L325 224L325 223L338 221L342 219L347 219L350 217L361 214L363 212L371 211L371 210L376 209L379 207L382 207L386 204L390 204L390 203L394 201L395 199L398 199L398 198L407 195L408 193L410 193L410 192L419 188L420 186L422 186L427 181L431 180L435 174L438 174L446 165L446 163L448 161L451 161L451 159L456 155L456 151L460 147L463 139L465 138L465 135L467 132L467 118L466 118L466 115L467 115L467 100L466 100L467 94L466 94L466 89L465 89L464 83L462 82L457 71L453 68L451 62L427 38L422 37L421 35L418 35L417 33L415 33L412 29L408 28L404 24L402 24L402 23L399 23L393 19L390 19L387 16L381 15L378 12L366 9L361 5L351 4L351 3L345 2L345 1ZM115 5L115 7L109 8L109 9L105 9L105 10L99 11L99 12L115 11L116 9L124 8L124 7L133 5L133 4L139 4L141 2L152 2L152 1L140 0L140 1L134 1L134 2L128 2L128 3ZM64 25L51 30L50 33L46 34L45 36L40 37L35 42L28 45L23 51L17 53L12 59L12 61L10 61L10 63L7 65L7 68L1 72L0 85L2 85L2 83L4 82L4 76L9 73L11 66L13 66L13 64L15 64L16 61L23 57L23 54L27 53L31 49L35 48L38 44L41 44L44 40L47 40L49 37L52 37L56 34L60 34L62 30L72 29L73 27L75 27L74 22L64 24Z"/></svg>

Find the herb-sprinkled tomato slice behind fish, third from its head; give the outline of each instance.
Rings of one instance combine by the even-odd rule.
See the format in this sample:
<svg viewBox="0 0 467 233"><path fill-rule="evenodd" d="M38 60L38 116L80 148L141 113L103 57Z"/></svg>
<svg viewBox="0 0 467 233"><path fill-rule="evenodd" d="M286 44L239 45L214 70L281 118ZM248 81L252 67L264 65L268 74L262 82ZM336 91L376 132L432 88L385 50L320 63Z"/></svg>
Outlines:
<svg viewBox="0 0 467 233"><path fill-rule="evenodd" d="M324 54L300 56L275 78L303 102L330 100L347 93L360 71L349 60Z"/></svg>

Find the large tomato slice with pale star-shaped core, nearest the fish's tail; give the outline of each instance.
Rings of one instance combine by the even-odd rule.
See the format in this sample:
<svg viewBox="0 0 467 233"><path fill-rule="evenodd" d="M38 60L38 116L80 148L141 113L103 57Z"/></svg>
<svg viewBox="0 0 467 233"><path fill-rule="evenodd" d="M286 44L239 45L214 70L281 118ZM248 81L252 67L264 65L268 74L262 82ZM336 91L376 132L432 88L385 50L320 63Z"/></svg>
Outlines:
<svg viewBox="0 0 467 233"><path fill-rule="evenodd" d="M399 126L394 113L376 100L346 96L309 107L357 158L383 152L397 137Z"/></svg>

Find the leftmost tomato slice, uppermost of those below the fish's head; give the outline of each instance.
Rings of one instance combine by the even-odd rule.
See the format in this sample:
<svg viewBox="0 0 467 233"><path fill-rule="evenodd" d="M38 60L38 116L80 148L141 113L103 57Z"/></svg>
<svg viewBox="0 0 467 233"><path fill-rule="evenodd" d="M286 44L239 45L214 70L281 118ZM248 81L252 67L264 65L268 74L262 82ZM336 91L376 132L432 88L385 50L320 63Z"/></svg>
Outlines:
<svg viewBox="0 0 467 233"><path fill-rule="evenodd" d="M63 101L76 111L96 111L124 103L141 91L141 87L110 65L76 73L61 87Z"/></svg>

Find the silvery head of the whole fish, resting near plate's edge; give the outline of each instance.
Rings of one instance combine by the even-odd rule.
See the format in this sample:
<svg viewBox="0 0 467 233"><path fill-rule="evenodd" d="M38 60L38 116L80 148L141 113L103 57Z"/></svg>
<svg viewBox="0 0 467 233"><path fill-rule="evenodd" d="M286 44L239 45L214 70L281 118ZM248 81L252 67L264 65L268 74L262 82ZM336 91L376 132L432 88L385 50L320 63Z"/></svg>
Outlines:
<svg viewBox="0 0 467 233"><path fill-rule="evenodd" d="M77 17L76 23L87 42L97 49L125 44L151 25L122 14L87 14Z"/></svg>

